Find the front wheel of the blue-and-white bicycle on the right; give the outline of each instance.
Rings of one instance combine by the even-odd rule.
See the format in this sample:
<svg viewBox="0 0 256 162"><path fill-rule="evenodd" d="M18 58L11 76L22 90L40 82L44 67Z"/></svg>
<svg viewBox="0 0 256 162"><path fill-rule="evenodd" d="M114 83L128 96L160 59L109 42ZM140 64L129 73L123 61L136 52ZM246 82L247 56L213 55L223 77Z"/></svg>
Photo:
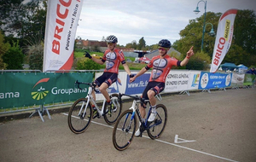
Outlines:
<svg viewBox="0 0 256 162"><path fill-rule="evenodd" d="M137 117L131 119L132 110L121 113L113 127L113 147L119 151L128 148L135 134Z"/></svg>

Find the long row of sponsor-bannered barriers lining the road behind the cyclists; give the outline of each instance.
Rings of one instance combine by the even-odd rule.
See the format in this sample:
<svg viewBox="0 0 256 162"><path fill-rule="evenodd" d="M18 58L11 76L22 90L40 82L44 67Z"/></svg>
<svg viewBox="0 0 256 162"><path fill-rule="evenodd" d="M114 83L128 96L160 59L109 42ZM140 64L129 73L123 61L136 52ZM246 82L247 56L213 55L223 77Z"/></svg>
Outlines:
<svg viewBox="0 0 256 162"><path fill-rule="evenodd" d="M136 74L137 72L132 71L131 73ZM38 113L39 110L43 112L45 110L48 113L46 107L63 106L63 102L72 104L73 101L86 96L88 86L79 90L74 87L76 80L90 83L100 75L102 75L102 71L2 71L0 74L0 109L26 107L26 110L34 109ZM108 88L109 93L142 95L148 84L149 76L150 72L146 72L130 83L127 73L120 71L118 81ZM167 75L166 89L162 93L180 92L180 94L189 95L189 90L207 90L210 93L211 89L225 90L226 87L236 88L241 85L248 88L254 82L255 75L251 74L172 70ZM96 99L97 101L103 100L103 95L97 93ZM15 111L20 111L20 109ZM9 112L2 111L0 113ZM42 117L41 119L43 120Z"/></svg>

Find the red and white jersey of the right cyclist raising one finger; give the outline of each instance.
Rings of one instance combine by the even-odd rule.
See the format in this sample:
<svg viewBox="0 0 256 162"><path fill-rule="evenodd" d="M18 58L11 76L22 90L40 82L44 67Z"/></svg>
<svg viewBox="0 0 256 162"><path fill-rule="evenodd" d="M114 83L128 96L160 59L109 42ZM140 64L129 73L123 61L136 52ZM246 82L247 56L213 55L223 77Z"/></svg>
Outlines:
<svg viewBox="0 0 256 162"><path fill-rule="evenodd" d="M178 66L179 61L175 58L170 57L169 55L165 55L164 58L160 58L160 55L156 55L152 58L152 60L146 66L146 69L153 67L151 72L149 82L166 82L166 76L172 69L172 66Z"/></svg>

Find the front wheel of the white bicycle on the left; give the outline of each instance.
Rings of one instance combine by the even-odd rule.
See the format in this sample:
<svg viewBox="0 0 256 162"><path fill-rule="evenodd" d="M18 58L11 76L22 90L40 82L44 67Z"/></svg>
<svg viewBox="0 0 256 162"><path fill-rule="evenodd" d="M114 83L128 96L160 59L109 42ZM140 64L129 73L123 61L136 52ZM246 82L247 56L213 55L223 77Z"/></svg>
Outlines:
<svg viewBox="0 0 256 162"><path fill-rule="evenodd" d="M69 129L73 133L83 133L90 125L92 108L90 104L86 107L87 101L87 98L80 98L73 103L73 106L69 110L67 122Z"/></svg>

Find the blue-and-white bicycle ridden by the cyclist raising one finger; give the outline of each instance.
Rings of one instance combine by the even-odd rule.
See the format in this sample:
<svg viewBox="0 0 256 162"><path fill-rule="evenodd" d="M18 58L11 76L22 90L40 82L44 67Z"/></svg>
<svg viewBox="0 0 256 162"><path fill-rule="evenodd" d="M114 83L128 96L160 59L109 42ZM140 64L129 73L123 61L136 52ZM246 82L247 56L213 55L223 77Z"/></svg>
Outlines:
<svg viewBox="0 0 256 162"><path fill-rule="evenodd" d="M122 95L119 94L120 98ZM151 113L151 107L148 110L146 121L143 122L141 114L138 109L138 104L149 103L149 100L144 100L137 95L126 95L133 99L131 108L121 113L119 119L113 127L113 146L119 151L123 151L131 145L135 131L137 130L137 118L141 122L140 131L141 136L144 130L147 130L148 136L154 140L159 138L166 128L167 122L167 109L163 104L156 105L157 115L153 122L148 122L149 115ZM149 103L150 106L150 103ZM137 115L136 115L137 114Z"/></svg>

